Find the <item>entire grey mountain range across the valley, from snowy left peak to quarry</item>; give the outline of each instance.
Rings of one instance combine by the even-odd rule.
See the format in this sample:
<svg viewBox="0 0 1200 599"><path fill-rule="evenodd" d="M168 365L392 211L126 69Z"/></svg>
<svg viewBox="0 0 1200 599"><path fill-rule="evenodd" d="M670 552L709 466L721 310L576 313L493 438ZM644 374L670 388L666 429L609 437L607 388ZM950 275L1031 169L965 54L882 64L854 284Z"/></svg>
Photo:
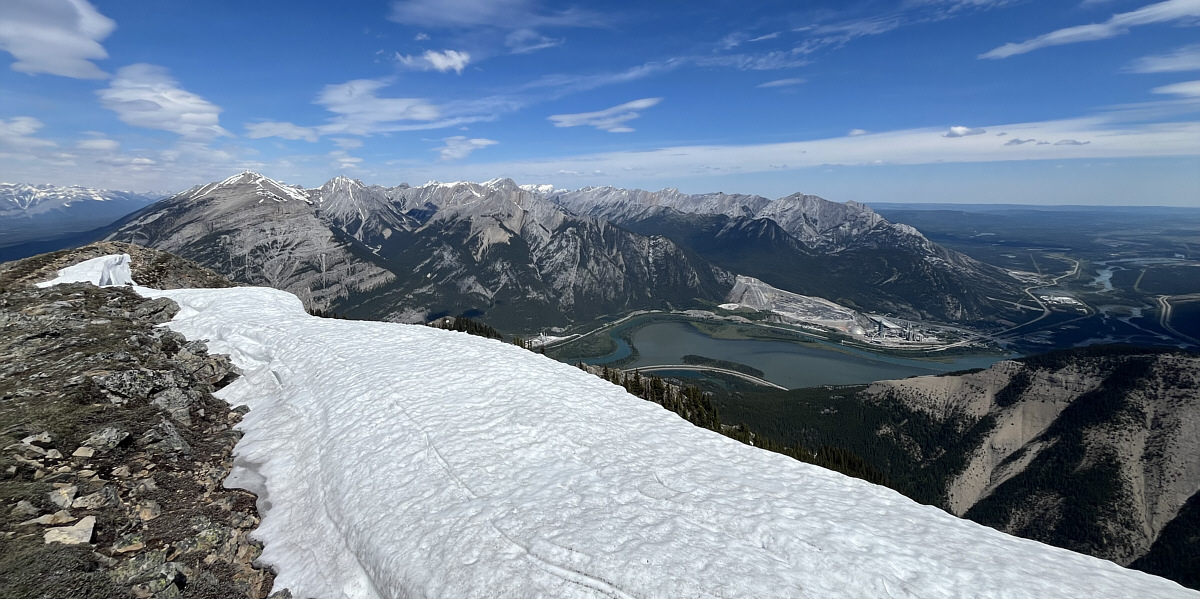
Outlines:
<svg viewBox="0 0 1200 599"><path fill-rule="evenodd" d="M1003 321L1006 272L869 208L509 179L301 188L257 173L196 186L110 227L310 309L396 322L565 327L638 309L721 303L748 275L868 311Z"/></svg>

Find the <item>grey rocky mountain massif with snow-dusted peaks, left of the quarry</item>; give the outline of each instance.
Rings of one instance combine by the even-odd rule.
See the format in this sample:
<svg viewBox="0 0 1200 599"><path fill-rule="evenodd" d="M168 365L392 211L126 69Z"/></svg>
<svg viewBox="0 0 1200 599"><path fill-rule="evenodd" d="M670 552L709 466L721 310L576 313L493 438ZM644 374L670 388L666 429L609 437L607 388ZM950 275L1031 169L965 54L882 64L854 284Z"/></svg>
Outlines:
<svg viewBox="0 0 1200 599"><path fill-rule="evenodd" d="M695 298L732 276L662 236L574 215L511 180L299 190L256 173L197 186L109 235L362 318L473 316L536 330Z"/></svg>

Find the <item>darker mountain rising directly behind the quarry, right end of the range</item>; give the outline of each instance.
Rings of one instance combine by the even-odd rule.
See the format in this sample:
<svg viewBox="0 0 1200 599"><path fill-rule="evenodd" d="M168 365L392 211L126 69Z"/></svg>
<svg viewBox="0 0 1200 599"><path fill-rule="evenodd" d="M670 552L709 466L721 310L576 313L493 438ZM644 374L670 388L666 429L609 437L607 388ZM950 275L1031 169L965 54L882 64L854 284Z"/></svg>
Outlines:
<svg viewBox="0 0 1200 599"><path fill-rule="evenodd" d="M577 214L665 235L738 275L868 311L1000 321L1014 316L1004 300L1020 295L1016 281L1002 270L854 202L614 187L547 197Z"/></svg>

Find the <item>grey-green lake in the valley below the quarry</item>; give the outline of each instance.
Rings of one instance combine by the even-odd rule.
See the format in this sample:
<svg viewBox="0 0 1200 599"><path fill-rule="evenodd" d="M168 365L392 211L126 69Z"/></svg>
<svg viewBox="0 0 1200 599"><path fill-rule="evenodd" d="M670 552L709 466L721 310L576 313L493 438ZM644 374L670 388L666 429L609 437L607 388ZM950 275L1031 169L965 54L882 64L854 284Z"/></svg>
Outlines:
<svg viewBox="0 0 1200 599"><path fill-rule="evenodd" d="M617 353L588 361L602 364L629 355L628 345L619 337L613 339L618 341ZM822 341L793 343L713 339L684 322L643 325L632 333L631 340L638 357L626 369L683 364L684 355L696 354L754 366L763 371L767 381L788 389L982 369L1002 359L997 355L959 355L947 361L926 361L874 354Z"/></svg>

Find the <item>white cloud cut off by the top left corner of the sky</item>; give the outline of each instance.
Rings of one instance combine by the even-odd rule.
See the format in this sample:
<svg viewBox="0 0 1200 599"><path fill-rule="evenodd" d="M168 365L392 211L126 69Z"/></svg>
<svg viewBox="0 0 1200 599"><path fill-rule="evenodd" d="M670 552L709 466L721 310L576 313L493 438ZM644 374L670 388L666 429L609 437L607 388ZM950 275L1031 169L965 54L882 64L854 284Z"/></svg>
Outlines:
<svg viewBox="0 0 1200 599"><path fill-rule="evenodd" d="M76 79L104 79L92 60L108 58L100 41L116 23L86 0L4 0L0 49L17 59L13 71Z"/></svg>

